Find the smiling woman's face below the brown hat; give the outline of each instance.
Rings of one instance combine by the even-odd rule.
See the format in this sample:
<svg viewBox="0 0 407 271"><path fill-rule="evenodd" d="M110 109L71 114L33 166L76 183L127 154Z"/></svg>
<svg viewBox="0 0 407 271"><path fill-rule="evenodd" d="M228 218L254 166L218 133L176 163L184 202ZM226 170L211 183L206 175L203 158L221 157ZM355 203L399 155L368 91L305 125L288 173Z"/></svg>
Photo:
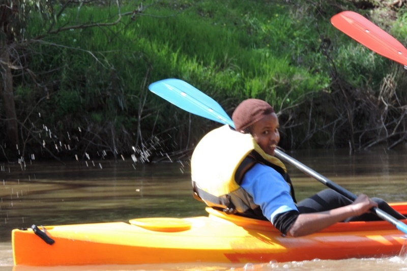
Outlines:
<svg viewBox="0 0 407 271"><path fill-rule="evenodd" d="M279 127L278 117L274 112L261 118L251 127L251 135L266 154L274 156L274 150L280 141Z"/></svg>

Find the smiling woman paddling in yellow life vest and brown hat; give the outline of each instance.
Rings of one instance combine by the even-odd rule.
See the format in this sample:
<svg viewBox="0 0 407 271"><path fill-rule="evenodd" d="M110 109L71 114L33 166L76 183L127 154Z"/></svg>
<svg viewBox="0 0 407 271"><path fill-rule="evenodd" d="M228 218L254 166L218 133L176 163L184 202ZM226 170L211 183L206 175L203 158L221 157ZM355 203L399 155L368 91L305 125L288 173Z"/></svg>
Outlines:
<svg viewBox="0 0 407 271"><path fill-rule="evenodd" d="M226 213L268 219L281 233L303 236L336 222L380 220L379 207L397 219L404 216L384 200L361 194L352 202L331 189L296 202L284 164L274 157L279 122L265 101L248 99L232 114L236 130L223 126L208 133L191 159L194 195Z"/></svg>

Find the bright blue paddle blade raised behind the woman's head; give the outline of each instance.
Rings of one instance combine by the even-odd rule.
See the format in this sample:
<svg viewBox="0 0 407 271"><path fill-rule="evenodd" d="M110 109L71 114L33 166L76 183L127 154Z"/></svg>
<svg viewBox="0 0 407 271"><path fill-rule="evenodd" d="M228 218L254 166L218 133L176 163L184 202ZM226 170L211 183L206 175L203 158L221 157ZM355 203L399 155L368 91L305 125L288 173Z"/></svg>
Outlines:
<svg viewBox="0 0 407 271"><path fill-rule="evenodd" d="M149 89L185 111L235 127L231 118L214 99L183 80L175 78L160 80L150 84Z"/></svg>

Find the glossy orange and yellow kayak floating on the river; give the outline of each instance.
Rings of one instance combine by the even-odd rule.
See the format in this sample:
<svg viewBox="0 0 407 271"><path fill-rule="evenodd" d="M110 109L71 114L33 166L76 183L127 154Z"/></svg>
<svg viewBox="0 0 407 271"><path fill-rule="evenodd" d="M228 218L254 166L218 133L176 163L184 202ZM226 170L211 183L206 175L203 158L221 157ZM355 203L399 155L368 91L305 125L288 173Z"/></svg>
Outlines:
<svg viewBox="0 0 407 271"><path fill-rule="evenodd" d="M407 213L407 202L391 205ZM207 211L207 217L14 229L14 264L264 263L383 257L398 255L404 242L404 234L385 221L336 223L293 238L282 236L268 221L212 208Z"/></svg>

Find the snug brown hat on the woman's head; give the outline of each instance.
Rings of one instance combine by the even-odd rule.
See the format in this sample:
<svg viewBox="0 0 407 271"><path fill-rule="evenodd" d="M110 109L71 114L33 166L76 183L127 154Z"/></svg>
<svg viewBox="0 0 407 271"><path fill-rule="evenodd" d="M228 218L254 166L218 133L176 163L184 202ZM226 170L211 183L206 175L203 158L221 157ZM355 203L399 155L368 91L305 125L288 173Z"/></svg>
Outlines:
<svg viewBox="0 0 407 271"><path fill-rule="evenodd" d="M267 102L258 99L247 99L241 102L232 114L236 131L242 131L274 112Z"/></svg>

